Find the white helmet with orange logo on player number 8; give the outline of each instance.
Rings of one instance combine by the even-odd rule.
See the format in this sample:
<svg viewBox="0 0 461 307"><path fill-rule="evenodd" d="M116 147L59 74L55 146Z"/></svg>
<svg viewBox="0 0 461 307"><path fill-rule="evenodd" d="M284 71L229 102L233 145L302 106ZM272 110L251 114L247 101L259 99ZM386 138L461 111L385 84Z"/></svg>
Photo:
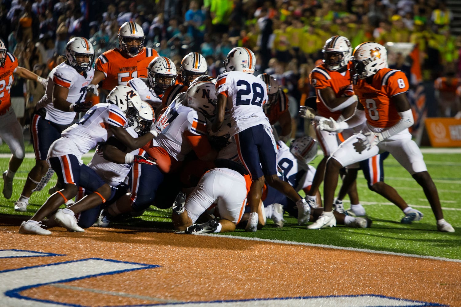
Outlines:
<svg viewBox="0 0 461 307"><path fill-rule="evenodd" d="M353 74L359 79L372 76L387 66L387 51L383 45L367 41L356 46L351 58Z"/></svg>

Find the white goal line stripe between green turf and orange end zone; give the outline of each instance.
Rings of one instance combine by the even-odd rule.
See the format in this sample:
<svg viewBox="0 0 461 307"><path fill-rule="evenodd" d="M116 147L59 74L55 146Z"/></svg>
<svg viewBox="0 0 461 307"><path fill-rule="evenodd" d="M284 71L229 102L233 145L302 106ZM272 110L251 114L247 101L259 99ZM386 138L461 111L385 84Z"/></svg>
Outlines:
<svg viewBox="0 0 461 307"><path fill-rule="evenodd" d="M434 256L422 256L422 255L413 255L413 254L404 254L404 253L394 253L394 252L387 252L387 251L383 251L383 250L356 249L356 248L353 248L353 247L345 247L345 246L334 246L334 245L313 244L313 243L305 243L305 242L261 239L259 237L226 236L226 235L220 235L220 234L217 234L217 233L213 233L213 234L211 234L211 233L199 233L199 234L195 234L195 236L230 237L232 239L242 239L242 240L248 240L248 241L261 241L261 242L280 243L280 244L287 244L287 245L304 245L304 246L310 246L310 247L323 247L323 248L326 248L326 249L341 249L341 250L350 250L350 251L354 251L354 252L393 255L393 256L404 256L404 257L414 257L414 258L422 258L422 259L431 259L431 260L439 260L439 261L449 261L449 262L459 262L459 263L461 263L461 259L449 259L449 258L434 257Z"/></svg>

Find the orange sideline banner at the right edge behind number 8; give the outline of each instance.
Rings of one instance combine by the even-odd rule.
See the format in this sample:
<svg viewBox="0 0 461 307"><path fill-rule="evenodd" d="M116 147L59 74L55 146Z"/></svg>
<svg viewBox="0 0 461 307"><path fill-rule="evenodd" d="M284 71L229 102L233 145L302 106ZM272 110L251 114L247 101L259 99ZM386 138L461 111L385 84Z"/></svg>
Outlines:
<svg viewBox="0 0 461 307"><path fill-rule="evenodd" d="M461 119L429 117L426 130L432 147L461 147Z"/></svg>

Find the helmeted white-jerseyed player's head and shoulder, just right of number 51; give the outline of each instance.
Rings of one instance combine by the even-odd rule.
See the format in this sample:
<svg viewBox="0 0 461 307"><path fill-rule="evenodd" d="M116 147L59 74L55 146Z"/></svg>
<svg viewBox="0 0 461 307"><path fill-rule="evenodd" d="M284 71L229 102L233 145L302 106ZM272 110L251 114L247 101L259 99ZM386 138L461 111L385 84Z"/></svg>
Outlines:
<svg viewBox="0 0 461 307"><path fill-rule="evenodd" d="M131 79L127 85L134 88L141 99L148 102L156 112L162 104L166 88L176 80L176 66L170 58L156 57L149 63L147 73L147 78Z"/></svg>

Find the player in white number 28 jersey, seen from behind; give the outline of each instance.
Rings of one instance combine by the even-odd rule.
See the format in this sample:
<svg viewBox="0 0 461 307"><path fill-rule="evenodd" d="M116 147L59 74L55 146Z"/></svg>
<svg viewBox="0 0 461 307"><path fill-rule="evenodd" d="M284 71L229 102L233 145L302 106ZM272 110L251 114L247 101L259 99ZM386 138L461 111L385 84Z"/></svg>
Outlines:
<svg viewBox="0 0 461 307"><path fill-rule="evenodd" d="M253 75L255 62L254 53L248 48L235 47L227 54L226 72L216 81L218 105L213 124L213 131L218 131L224 122L226 107L231 111L230 135L234 137L240 160L253 180L248 193L251 208L248 231L256 231L258 222L264 225L264 217L257 214L264 180L297 202L301 210L300 220L309 214L307 203L290 184L277 176L275 140L262 108L268 100L267 89L264 81Z"/></svg>

